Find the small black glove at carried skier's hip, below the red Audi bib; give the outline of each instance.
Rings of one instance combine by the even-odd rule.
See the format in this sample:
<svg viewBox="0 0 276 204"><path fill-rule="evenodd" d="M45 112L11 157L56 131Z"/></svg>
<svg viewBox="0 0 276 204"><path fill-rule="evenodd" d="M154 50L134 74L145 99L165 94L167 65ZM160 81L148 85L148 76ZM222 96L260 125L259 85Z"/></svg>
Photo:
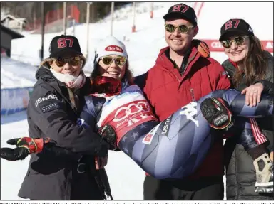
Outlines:
<svg viewBox="0 0 276 204"><path fill-rule="evenodd" d="M120 151L116 144L117 135L115 129L109 124L106 124L98 130L98 134L101 135L102 139L109 144L109 149L114 151Z"/></svg>

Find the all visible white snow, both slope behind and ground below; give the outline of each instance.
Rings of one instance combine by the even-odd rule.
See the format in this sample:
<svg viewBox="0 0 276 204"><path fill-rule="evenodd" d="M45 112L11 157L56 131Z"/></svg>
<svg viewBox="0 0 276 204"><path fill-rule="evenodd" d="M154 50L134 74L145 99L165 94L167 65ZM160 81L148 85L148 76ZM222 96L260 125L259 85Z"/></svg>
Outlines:
<svg viewBox="0 0 276 204"><path fill-rule="evenodd" d="M126 44L134 75L145 73L151 68L155 64L158 51L166 45L162 17L167 13L169 6L174 3L154 2L153 19L150 18L149 14L150 4L138 3L136 6L138 11L136 14L136 33L131 33L133 26L131 6L126 6L115 12L116 21L113 23L113 36ZM192 2L187 4L193 6ZM205 2L198 19L200 31L197 38L218 39L220 26L230 18L244 18L252 26L255 35L261 40L273 39L272 2ZM86 54L88 42L89 55L85 68L88 72L92 70L94 49L103 38L111 33L110 19L108 16L99 23L90 24L89 41L86 38L86 25L79 25L75 28L75 36L79 39L84 54ZM69 28L67 33L71 34L72 29ZM61 33L51 33L44 36L44 56L48 56L48 45L51 38L59 34ZM24 63L39 65L40 48L41 36L26 34L25 38L12 41L11 57ZM211 53L211 55L220 63L226 59L224 53ZM1 58L1 88L29 87L34 84L36 68L29 67L24 63ZM26 112L1 117L1 147L8 146L6 144L7 139L21 136L28 136ZM28 163L29 159L16 162L1 159L1 200L21 199L17 193ZM106 169L114 199L143 200L143 178L145 174L131 159L128 159L122 152L111 152Z"/></svg>

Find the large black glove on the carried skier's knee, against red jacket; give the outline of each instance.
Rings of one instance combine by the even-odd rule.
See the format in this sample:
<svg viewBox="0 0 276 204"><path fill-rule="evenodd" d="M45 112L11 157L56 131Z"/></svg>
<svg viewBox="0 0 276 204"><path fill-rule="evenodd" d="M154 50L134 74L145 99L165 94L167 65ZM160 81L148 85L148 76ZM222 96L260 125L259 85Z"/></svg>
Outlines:
<svg viewBox="0 0 276 204"><path fill-rule="evenodd" d="M232 113L222 98L207 98L200 104L203 117L214 129L228 129L232 127Z"/></svg>

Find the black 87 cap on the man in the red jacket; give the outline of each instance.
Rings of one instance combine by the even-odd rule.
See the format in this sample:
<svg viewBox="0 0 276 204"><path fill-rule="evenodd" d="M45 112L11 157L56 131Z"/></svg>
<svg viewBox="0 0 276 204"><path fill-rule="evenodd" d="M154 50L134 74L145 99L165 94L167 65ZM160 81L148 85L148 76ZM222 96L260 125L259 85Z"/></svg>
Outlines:
<svg viewBox="0 0 276 204"><path fill-rule="evenodd" d="M173 18L173 17L183 18L189 21L190 23L192 23L193 26L198 25L197 17L195 15L195 10L186 4L181 3L181 4L175 4L171 6L170 9L168 9L168 13L165 14L165 16L163 16L165 21L168 18Z"/></svg>

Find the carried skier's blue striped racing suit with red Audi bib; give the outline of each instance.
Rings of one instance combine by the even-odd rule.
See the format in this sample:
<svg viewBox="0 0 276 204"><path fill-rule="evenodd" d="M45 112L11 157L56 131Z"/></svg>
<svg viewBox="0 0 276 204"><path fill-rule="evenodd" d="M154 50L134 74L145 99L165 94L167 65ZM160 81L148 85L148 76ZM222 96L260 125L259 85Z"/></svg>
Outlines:
<svg viewBox="0 0 276 204"><path fill-rule="evenodd" d="M140 88L130 85L119 95L86 96L78 124L97 128L110 124L116 130L117 146L145 172L158 179L183 178L198 168L213 144L211 127L200 111L207 97L228 102L232 114L240 118L234 127L245 129L245 134L251 129L246 117L273 114L273 97L262 95L256 107L249 107L240 92L216 90L158 122Z"/></svg>

